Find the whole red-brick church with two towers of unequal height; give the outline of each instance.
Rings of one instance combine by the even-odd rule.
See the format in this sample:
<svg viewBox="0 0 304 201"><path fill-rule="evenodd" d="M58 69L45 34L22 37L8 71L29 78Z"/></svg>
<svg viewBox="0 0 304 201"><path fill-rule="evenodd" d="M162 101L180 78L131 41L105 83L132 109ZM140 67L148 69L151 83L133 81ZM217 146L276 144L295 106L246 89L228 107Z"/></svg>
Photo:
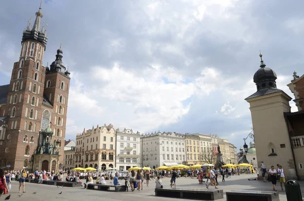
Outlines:
<svg viewBox="0 0 304 201"><path fill-rule="evenodd" d="M48 36L41 27L41 5L35 15L23 31L10 84L0 86L0 166L57 172L63 165L70 73L61 45L50 68L43 66ZM52 151L40 151L47 131Z"/></svg>

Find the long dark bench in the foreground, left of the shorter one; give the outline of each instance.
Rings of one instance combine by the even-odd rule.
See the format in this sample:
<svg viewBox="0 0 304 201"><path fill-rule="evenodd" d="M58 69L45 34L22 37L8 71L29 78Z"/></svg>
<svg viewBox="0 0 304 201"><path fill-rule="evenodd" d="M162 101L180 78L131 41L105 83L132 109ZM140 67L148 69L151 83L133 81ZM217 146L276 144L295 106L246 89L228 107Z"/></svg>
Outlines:
<svg viewBox="0 0 304 201"><path fill-rule="evenodd" d="M217 200L224 198L223 190L219 189L202 190L183 188L156 188L155 196L200 200Z"/></svg>

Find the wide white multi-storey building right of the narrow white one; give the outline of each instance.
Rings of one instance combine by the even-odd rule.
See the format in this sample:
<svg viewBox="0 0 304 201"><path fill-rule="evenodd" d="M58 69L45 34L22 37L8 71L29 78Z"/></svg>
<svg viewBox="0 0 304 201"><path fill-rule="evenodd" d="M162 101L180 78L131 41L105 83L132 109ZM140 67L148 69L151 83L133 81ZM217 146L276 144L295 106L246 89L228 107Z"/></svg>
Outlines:
<svg viewBox="0 0 304 201"><path fill-rule="evenodd" d="M142 167L158 168L186 164L185 136L181 133L154 133L141 136Z"/></svg>

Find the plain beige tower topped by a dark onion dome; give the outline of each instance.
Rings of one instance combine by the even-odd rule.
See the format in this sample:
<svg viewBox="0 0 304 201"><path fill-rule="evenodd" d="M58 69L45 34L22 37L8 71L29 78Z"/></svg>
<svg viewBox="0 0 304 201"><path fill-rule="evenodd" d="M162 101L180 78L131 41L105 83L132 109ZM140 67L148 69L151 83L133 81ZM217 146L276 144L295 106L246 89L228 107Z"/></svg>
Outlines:
<svg viewBox="0 0 304 201"><path fill-rule="evenodd" d="M286 175L295 177L294 160L284 112L290 112L289 97L277 89L276 73L265 67L262 60L260 68L253 76L257 92L246 98L250 104L254 141L258 166L261 162L267 166L280 164Z"/></svg>

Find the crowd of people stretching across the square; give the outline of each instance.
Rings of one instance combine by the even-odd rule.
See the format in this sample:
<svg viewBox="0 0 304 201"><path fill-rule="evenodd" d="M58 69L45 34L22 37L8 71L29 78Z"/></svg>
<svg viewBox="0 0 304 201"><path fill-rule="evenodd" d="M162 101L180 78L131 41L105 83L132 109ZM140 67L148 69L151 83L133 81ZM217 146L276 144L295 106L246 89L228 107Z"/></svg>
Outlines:
<svg viewBox="0 0 304 201"><path fill-rule="evenodd" d="M281 189L286 181L286 175L281 165L277 164L277 169L271 166L271 169L267 171L263 162L260 165L260 169L246 169L246 173L257 174L256 178L248 180L258 180L259 172L262 173L262 178L264 182L270 181L273 184L273 190L276 190L277 181L280 182ZM7 194L11 190L11 182L14 179L19 179L19 193L25 193L25 179L39 180L36 183L43 183L43 181L54 180L62 181L63 175L66 174L65 181L67 182L81 182L81 179L86 179L85 188L88 188L88 184L93 184L94 180L97 184L106 185L109 180L111 185L123 185L120 180L125 180L125 185L131 187L131 191L137 189L138 191L143 190L143 184L149 186L149 181L155 179L156 188L163 188L162 178L170 177L170 186L176 188L176 178L178 177L191 177L192 179L197 178L199 184L206 184L206 188L209 186L214 186L217 189L218 178L222 178L222 182L225 182L225 178L231 178L233 175L240 175L239 168L215 168L215 167L202 167L197 170L185 170L185 169L173 169L173 170L137 170L137 171L92 171L92 172L80 172L68 170L67 172L54 173L47 171L35 171L29 174L24 169L19 171L4 171L0 169L0 196L2 194ZM268 179L265 175L268 174ZM206 181L204 181L206 179ZM210 182L208 183L208 181Z"/></svg>

